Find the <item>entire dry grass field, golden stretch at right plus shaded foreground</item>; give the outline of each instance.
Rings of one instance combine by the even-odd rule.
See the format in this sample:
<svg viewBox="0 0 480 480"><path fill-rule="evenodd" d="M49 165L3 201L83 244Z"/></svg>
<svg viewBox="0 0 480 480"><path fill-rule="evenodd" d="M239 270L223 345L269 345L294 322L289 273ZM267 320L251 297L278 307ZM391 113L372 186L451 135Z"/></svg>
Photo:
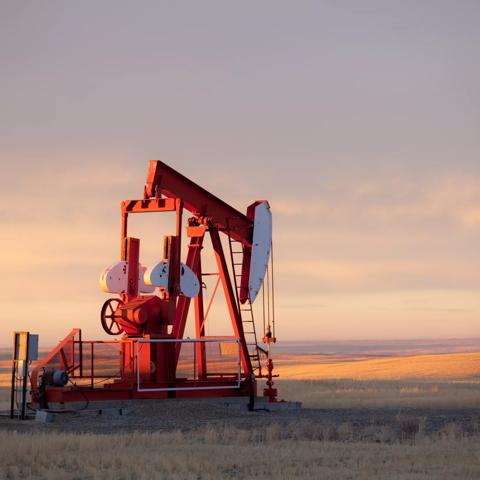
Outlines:
<svg viewBox="0 0 480 480"><path fill-rule="evenodd" d="M480 478L479 361L282 355L280 396L302 401L310 416L110 434L0 429L0 478ZM6 400L4 391L1 408Z"/></svg>

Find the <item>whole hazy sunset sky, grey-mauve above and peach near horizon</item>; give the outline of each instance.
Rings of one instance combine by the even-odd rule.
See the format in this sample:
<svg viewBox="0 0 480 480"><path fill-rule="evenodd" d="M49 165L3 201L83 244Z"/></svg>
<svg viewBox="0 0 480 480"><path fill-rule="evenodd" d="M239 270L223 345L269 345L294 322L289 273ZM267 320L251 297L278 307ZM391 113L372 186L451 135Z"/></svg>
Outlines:
<svg viewBox="0 0 480 480"><path fill-rule="evenodd" d="M269 200L279 341L480 337L479 24L467 0L0 0L0 346L105 338L150 159ZM135 221L161 257L171 225Z"/></svg>

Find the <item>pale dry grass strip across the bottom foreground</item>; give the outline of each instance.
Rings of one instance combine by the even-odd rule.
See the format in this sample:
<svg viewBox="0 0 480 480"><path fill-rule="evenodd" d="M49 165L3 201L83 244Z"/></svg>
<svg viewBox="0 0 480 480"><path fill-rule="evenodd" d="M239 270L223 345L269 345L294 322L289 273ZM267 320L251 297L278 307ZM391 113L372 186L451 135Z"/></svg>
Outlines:
<svg viewBox="0 0 480 480"><path fill-rule="evenodd" d="M0 433L0 478L36 479L473 479L480 437L355 441L207 427L181 433L92 435Z"/></svg>

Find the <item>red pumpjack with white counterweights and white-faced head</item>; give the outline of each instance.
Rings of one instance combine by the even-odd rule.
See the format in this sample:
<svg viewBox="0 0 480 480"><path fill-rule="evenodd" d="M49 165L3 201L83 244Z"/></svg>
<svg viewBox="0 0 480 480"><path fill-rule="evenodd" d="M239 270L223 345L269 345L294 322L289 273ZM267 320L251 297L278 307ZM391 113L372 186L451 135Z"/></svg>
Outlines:
<svg viewBox="0 0 480 480"><path fill-rule="evenodd" d="M182 262L185 211L191 216ZM175 233L164 237L163 257L144 266L140 239L128 235L128 219L132 214L159 212L175 214ZM223 242L221 235L226 237ZM207 236L218 272L202 271ZM216 276L216 284L205 309L207 275ZM276 401L270 355L276 341L272 215L266 200L253 202L243 214L165 163L151 160L143 198L121 202L120 260L103 271L100 285L115 294L100 314L103 329L115 339L83 340L81 330L73 329L32 370L32 401L47 405L252 396L259 378L266 379L264 395ZM209 336L206 320L220 286L232 335ZM264 347L254 318L257 298L263 301ZM185 338L192 300L195 338Z"/></svg>

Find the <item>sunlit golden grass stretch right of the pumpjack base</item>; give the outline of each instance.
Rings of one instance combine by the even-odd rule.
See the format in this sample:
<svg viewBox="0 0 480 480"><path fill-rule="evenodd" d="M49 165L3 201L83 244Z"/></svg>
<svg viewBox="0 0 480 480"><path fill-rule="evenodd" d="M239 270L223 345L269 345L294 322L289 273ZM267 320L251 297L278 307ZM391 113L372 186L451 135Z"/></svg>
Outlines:
<svg viewBox="0 0 480 480"><path fill-rule="evenodd" d="M280 355L282 398L312 408L479 408L480 353L355 358Z"/></svg>

